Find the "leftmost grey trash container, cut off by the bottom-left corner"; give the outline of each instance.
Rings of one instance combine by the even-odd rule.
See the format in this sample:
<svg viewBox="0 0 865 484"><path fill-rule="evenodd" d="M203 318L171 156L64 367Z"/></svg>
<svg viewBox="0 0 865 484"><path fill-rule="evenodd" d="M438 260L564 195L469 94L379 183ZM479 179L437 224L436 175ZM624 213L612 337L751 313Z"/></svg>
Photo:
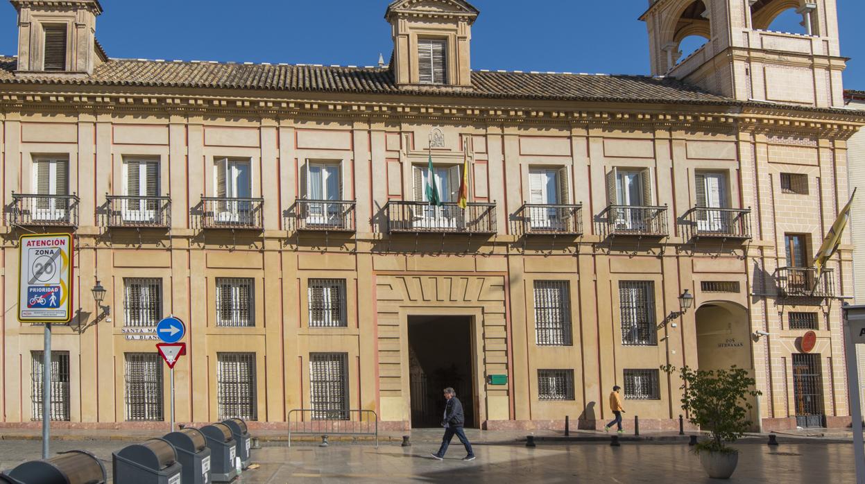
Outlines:
<svg viewBox="0 0 865 484"><path fill-rule="evenodd" d="M95 455L84 450L70 450L44 461L24 462L0 482L11 484L104 484L106 468Z"/></svg>

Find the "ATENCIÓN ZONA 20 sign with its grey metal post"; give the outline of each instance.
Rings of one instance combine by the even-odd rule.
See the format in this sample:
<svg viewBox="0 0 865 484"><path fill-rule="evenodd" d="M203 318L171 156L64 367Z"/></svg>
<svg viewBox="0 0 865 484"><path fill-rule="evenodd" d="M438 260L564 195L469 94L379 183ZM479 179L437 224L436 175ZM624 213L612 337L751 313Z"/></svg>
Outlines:
<svg viewBox="0 0 865 484"><path fill-rule="evenodd" d="M18 321L45 324L42 348L42 458L51 440L51 323L72 319L70 233L22 235L18 239Z"/></svg>

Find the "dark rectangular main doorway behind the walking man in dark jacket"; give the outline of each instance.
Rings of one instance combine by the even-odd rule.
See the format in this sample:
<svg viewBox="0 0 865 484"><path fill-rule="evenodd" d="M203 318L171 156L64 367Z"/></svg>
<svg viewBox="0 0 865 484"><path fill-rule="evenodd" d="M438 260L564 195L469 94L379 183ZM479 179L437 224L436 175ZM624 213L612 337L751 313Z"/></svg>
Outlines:
<svg viewBox="0 0 865 484"><path fill-rule="evenodd" d="M477 427L471 317L408 316L408 366L412 428L439 427L448 386L463 404L465 426Z"/></svg>

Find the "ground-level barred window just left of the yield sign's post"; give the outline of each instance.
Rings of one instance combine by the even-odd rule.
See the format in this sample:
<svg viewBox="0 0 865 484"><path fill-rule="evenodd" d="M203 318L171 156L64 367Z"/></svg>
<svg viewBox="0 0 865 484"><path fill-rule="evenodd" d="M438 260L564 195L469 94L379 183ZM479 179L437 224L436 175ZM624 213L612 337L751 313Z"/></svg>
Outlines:
<svg viewBox="0 0 865 484"><path fill-rule="evenodd" d="M126 420L163 420L163 366L158 353L125 353Z"/></svg>

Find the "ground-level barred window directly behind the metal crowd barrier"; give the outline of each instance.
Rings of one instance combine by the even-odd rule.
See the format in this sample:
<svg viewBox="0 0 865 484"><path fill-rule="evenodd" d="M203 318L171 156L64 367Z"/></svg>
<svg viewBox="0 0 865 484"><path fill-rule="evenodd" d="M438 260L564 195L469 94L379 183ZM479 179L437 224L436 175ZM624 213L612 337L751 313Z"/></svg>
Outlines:
<svg viewBox="0 0 865 484"><path fill-rule="evenodd" d="M349 419L348 353L310 353L310 407L316 420Z"/></svg>

